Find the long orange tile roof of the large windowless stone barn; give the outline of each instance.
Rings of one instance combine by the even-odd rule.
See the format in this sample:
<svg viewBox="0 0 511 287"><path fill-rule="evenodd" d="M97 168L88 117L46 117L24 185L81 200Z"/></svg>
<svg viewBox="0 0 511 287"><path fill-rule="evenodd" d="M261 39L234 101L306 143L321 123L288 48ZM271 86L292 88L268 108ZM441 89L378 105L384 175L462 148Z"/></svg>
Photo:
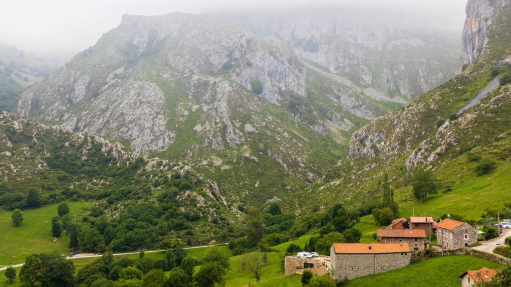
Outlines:
<svg viewBox="0 0 511 287"><path fill-rule="evenodd" d="M333 243L335 254L384 254L411 252L402 243Z"/></svg>

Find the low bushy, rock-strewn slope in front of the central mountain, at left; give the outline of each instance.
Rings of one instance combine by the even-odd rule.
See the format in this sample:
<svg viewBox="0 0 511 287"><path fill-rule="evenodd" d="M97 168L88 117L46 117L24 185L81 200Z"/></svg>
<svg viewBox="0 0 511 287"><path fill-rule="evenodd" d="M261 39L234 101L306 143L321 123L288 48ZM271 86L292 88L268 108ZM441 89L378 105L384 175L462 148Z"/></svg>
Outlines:
<svg viewBox="0 0 511 287"><path fill-rule="evenodd" d="M0 112L0 208L27 208L27 194L36 189L41 205L94 201L86 210L87 222L108 218L117 226L127 218L144 218L129 230L105 233L106 245L117 241L110 250L156 248L170 235L198 245L218 240L220 231L233 234L226 229L239 223L241 212L228 205L216 182L190 166L132 156L118 141ZM139 239L129 241L133 237Z"/></svg>

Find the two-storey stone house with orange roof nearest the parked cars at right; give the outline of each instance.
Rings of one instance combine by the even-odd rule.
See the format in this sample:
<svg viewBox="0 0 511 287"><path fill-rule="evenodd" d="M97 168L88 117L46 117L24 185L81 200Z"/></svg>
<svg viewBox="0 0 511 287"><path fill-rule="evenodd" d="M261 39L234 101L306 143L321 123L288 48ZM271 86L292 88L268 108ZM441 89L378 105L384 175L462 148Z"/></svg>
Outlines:
<svg viewBox="0 0 511 287"><path fill-rule="evenodd" d="M477 243L477 228L452 219L436 224L436 243L444 249L459 249Z"/></svg>

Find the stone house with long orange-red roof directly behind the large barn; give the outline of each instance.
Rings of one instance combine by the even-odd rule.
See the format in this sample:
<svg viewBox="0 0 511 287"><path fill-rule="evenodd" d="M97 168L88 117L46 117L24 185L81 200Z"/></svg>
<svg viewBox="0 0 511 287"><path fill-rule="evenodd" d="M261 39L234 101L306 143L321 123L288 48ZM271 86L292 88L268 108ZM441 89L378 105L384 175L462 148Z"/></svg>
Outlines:
<svg viewBox="0 0 511 287"><path fill-rule="evenodd" d="M424 229L378 229L381 243L406 243L412 252L423 252L428 248Z"/></svg>

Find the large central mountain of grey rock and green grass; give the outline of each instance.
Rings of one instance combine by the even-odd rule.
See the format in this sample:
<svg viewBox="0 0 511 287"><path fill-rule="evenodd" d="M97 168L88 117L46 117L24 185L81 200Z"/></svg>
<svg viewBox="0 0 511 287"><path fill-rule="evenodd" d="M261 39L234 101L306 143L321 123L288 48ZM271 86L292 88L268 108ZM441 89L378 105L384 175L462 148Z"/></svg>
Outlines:
<svg viewBox="0 0 511 287"><path fill-rule="evenodd" d="M391 44L405 37L398 34L378 42L399 54L409 43ZM431 39L425 45L438 44ZM444 55L419 61L434 68ZM394 60L405 65L387 59ZM125 15L96 45L27 89L15 112L192 166L218 182L229 203L261 202L320 178L347 154L354 131L405 102L338 73L340 64L324 65L238 21ZM455 73L438 70L428 77Z"/></svg>

